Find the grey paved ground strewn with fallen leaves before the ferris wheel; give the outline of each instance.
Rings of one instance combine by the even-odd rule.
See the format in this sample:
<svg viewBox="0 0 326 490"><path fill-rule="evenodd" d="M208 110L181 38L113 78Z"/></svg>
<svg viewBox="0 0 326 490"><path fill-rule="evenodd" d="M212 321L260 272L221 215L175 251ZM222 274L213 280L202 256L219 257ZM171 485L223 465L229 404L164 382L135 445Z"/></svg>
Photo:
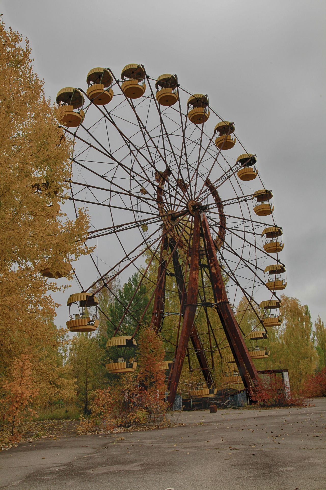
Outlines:
<svg viewBox="0 0 326 490"><path fill-rule="evenodd" d="M313 403L183 412L183 426L133 433L68 429L2 451L0 489L325 490L326 399Z"/></svg>

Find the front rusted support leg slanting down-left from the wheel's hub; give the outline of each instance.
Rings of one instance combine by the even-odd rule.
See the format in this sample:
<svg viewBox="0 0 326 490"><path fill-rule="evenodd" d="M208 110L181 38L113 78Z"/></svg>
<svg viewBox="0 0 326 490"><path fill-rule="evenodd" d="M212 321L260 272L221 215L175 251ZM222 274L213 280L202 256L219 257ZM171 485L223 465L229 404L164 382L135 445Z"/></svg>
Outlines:
<svg viewBox="0 0 326 490"><path fill-rule="evenodd" d="M183 318L180 340L176 350L174 365L172 367L170 393L168 398L169 405L173 405L176 390L179 384L183 362L186 356L190 335L194 325L197 309L198 296L198 269L199 269L199 232L200 216L198 212L194 218L193 244L189 270L189 284L187 294L187 305Z"/></svg>

